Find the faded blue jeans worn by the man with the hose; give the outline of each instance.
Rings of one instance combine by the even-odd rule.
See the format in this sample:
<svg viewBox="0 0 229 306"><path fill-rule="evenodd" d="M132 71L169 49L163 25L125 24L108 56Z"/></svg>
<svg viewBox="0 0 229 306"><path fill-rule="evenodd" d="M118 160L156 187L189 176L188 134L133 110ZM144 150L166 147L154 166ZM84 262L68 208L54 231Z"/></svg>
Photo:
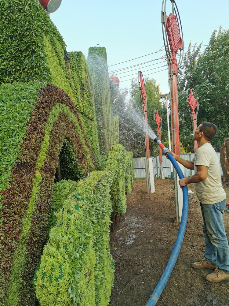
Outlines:
<svg viewBox="0 0 229 306"><path fill-rule="evenodd" d="M215 204L200 203L204 219L203 231L206 243L204 257L213 265L229 273L229 247L222 214L226 200Z"/></svg>

